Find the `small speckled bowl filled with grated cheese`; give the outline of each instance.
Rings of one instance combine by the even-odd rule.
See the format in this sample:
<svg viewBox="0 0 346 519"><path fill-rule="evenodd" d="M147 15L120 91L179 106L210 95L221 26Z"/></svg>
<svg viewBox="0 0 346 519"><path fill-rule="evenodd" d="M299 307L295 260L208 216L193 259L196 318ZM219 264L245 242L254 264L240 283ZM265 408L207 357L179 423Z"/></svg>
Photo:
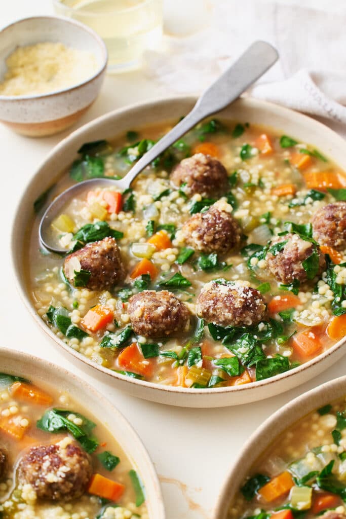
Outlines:
<svg viewBox="0 0 346 519"><path fill-rule="evenodd" d="M23 135L72 126L100 92L103 40L74 20L25 18L0 31L0 121Z"/></svg>

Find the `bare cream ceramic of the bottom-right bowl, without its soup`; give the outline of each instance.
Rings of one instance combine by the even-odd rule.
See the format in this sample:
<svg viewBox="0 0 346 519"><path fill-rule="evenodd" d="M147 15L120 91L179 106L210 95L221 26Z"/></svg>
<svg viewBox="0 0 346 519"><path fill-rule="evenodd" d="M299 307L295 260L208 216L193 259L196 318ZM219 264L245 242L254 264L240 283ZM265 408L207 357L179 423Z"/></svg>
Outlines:
<svg viewBox="0 0 346 519"><path fill-rule="evenodd" d="M238 461L229 472L225 485L219 495L212 519L226 519L227 511L234 495L242 486L257 458L287 428L314 409L323 407L346 395L346 376L322 384L276 411L262 424L244 445Z"/></svg>

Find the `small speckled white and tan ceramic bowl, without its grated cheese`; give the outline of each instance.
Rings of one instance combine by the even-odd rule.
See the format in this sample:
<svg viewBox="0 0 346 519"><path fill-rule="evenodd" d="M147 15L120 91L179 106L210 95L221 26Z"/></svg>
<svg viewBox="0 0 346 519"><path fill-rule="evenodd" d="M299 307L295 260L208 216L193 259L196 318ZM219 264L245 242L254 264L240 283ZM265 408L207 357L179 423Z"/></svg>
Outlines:
<svg viewBox="0 0 346 519"><path fill-rule="evenodd" d="M59 42L92 52L97 69L91 77L63 90L38 95L0 95L0 121L31 137L51 135L73 125L96 99L104 79L107 50L103 40L87 26L65 18L25 18L0 32L0 81L6 59L18 46Z"/></svg>

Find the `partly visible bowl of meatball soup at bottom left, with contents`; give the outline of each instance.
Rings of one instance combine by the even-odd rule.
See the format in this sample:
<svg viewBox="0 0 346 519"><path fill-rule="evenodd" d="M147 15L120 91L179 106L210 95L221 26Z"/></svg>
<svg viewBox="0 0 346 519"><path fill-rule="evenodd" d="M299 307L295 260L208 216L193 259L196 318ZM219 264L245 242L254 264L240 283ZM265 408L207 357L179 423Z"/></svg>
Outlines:
<svg viewBox="0 0 346 519"><path fill-rule="evenodd" d="M1 348L0 364L2 519L164 517L150 458L115 407L50 362Z"/></svg>

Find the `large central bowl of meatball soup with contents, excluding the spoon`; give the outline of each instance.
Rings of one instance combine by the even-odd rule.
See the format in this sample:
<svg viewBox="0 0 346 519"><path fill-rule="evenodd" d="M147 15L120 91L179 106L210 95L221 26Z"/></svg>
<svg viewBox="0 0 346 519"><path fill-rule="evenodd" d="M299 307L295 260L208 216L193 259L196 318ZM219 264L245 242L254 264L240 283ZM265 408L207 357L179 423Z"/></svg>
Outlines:
<svg viewBox="0 0 346 519"><path fill-rule="evenodd" d="M123 193L122 177L193 106L150 102L60 143L20 201L12 253L35 321L75 358L141 398L223 406L316 377L342 355L343 140L280 106L241 99L202 121ZM109 379L111 380L111 379Z"/></svg>

